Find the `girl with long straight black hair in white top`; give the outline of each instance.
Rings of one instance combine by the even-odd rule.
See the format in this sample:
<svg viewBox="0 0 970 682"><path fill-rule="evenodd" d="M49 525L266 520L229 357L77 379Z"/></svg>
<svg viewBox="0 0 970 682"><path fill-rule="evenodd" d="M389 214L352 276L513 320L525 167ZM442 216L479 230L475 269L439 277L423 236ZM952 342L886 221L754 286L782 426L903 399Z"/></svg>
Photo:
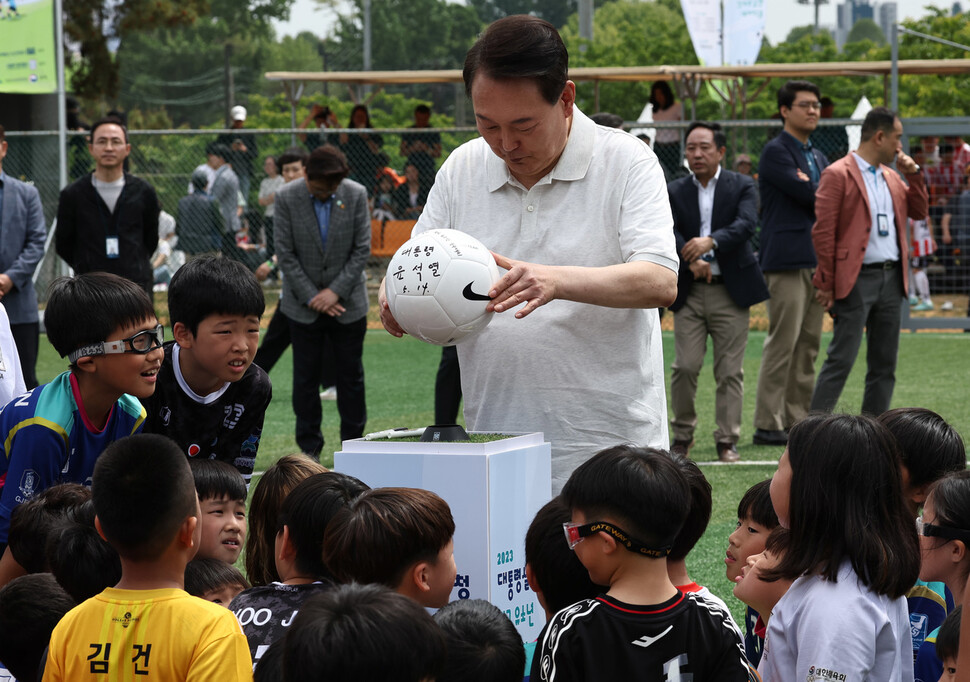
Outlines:
<svg viewBox="0 0 970 682"><path fill-rule="evenodd" d="M789 544L767 580L794 579L775 605L765 682L912 682L906 592L920 569L898 446L874 419L813 415L792 427L771 480Z"/></svg>

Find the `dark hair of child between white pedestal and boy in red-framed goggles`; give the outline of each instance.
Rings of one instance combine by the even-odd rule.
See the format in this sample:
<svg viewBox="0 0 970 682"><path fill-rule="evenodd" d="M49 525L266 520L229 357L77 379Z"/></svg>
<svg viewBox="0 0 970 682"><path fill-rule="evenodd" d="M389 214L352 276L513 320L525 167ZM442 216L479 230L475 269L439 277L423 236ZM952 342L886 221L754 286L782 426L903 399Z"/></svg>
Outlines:
<svg viewBox="0 0 970 682"><path fill-rule="evenodd" d="M569 520L569 507L557 495L536 513L525 534L525 561L552 613L604 592L566 544L562 524Z"/></svg>

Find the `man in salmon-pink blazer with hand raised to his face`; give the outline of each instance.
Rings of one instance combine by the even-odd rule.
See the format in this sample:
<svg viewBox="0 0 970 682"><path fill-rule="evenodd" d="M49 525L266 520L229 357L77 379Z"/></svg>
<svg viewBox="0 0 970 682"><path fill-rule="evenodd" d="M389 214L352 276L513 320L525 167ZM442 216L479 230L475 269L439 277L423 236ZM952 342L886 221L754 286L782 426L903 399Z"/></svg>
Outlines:
<svg viewBox="0 0 970 682"><path fill-rule="evenodd" d="M812 411L831 411L867 337L862 412L889 409L896 383L900 310L907 291L907 216L926 217L920 168L901 149L903 124L876 107L862 124L859 149L822 172L812 242L816 298L834 320L834 335L812 395ZM899 173L887 164L896 161ZM908 186L907 186L908 183Z"/></svg>

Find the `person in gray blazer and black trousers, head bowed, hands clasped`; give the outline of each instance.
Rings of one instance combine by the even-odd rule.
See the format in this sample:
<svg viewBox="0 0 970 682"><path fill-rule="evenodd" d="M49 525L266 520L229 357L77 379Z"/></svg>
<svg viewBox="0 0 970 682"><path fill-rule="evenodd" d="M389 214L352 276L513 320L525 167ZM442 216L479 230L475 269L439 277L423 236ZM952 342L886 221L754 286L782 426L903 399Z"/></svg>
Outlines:
<svg viewBox="0 0 970 682"><path fill-rule="evenodd" d="M323 362L334 363L340 438L359 438L367 422L364 401L364 333L370 255L370 217L364 187L347 179L343 152L314 150L304 181L276 193L276 253L283 272L280 307L293 343L293 412L300 449L323 449L318 397ZM323 343L332 344L324 358Z"/></svg>

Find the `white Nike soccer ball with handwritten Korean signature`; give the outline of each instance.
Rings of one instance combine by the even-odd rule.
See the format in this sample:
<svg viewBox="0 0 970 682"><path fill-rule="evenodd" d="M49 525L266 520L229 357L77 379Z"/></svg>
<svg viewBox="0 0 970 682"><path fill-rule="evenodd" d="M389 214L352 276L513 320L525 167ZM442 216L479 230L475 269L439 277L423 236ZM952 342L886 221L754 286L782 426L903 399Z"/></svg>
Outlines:
<svg viewBox="0 0 970 682"><path fill-rule="evenodd" d="M384 289L397 323L411 336L453 346L488 326L488 292L501 275L474 237L430 230L405 242L387 266Z"/></svg>

